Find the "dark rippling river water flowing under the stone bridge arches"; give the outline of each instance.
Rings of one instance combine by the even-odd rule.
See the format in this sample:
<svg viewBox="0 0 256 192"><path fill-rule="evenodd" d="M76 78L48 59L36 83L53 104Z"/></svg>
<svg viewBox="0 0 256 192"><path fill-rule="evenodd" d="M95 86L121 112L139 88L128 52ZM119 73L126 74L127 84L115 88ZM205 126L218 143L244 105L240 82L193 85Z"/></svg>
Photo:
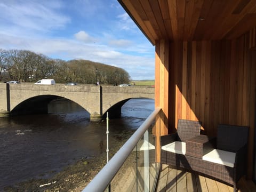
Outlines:
<svg viewBox="0 0 256 192"><path fill-rule="evenodd" d="M131 99L122 117L110 119L111 135L136 130L154 110L154 100ZM69 100L49 105L48 115L0 118L0 191L32 178L47 178L77 159L106 153L106 121L90 122Z"/></svg>

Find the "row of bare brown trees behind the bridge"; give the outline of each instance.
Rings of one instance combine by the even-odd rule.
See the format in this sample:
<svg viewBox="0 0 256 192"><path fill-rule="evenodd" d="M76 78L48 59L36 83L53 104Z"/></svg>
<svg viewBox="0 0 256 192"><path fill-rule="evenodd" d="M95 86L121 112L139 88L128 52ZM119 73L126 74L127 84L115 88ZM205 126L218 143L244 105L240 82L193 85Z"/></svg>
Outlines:
<svg viewBox="0 0 256 192"><path fill-rule="evenodd" d="M54 78L57 83L130 82L130 76L124 69L103 63L89 60L65 61L26 50L0 49L0 81L36 82L42 78Z"/></svg>

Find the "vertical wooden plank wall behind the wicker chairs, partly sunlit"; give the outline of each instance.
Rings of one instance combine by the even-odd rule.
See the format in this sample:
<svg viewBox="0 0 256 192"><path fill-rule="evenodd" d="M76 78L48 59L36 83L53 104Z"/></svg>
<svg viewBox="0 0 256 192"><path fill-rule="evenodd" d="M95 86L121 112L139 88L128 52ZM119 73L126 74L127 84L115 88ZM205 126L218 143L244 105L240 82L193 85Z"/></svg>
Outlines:
<svg viewBox="0 0 256 192"><path fill-rule="evenodd" d="M169 132L179 118L201 121L207 135L218 123L249 126L252 175L256 52L249 38L170 43Z"/></svg>

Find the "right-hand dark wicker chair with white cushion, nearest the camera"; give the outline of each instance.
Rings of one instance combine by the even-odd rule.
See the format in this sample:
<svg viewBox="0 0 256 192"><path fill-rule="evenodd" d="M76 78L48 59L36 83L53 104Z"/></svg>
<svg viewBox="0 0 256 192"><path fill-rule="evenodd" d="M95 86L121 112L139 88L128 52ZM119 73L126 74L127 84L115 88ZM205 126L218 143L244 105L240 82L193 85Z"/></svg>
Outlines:
<svg viewBox="0 0 256 192"><path fill-rule="evenodd" d="M199 172L234 186L247 173L248 127L218 125L216 146L203 156ZM189 161L190 162L190 161Z"/></svg>

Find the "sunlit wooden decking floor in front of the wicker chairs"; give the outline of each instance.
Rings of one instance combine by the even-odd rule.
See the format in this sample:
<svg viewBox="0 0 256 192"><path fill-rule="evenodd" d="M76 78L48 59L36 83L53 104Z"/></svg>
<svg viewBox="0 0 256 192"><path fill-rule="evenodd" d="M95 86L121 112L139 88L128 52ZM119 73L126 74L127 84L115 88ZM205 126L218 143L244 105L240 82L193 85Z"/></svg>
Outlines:
<svg viewBox="0 0 256 192"><path fill-rule="evenodd" d="M237 188L239 192L256 191L254 183L243 178L238 182ZM198 175L197 173L171 169L168 165L163 165L163 170L159 173L156 191L233 192L234 189L231 186Z"/></svg>

